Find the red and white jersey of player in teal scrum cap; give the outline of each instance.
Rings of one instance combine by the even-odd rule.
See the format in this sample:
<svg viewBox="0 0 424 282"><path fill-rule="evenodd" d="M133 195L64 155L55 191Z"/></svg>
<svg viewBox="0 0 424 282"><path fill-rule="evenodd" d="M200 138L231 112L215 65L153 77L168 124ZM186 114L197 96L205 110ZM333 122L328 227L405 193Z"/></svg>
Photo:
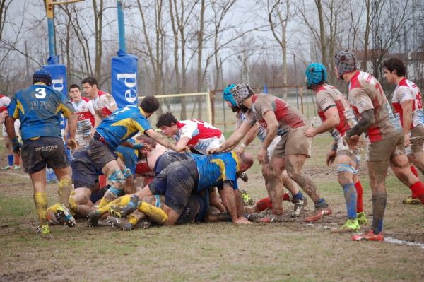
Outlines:
<svg viewBox="0 0 424 282"><path fill-rule="evenodd" d="M351 129L356 124L355 114L349 105L348 100L334 86L324 84L317 91L317 108L318 115L323 122L326 121L324 112L330 107L336 107L340 123L336 126L336 130L341 136L346 134L346 131Z"/></svg>

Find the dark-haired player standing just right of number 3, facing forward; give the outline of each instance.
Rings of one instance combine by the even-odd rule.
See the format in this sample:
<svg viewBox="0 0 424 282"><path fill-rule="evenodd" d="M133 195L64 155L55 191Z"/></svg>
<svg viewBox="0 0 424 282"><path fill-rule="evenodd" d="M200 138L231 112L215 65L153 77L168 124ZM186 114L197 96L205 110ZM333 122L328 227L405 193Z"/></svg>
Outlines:
<svg viewBox="0 0 424 282"><path fill-rule="evenodd" d="M78 124L75 134L75 140L76 143L78 143L77 148L87 146L94 127L95 111L93 100L81 96L81 89L76 84L69 86L69 97L71 97L71 103L78 115ZM68 131L68 124L66 124L65 138L68 135Z"/></svg>

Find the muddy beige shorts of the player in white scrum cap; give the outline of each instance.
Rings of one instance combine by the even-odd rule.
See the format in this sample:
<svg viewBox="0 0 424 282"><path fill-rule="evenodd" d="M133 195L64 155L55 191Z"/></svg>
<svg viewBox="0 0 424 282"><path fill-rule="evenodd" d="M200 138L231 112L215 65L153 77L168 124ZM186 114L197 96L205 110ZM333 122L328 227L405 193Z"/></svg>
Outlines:
<svg viewBox="0 0 424 282"><path fill-rule="evenodd" d="M287 134L281 136L273 151L272 158L285 158L286 155L306 155L311 156L312 139L306 138L303 131L307 127L290 129Z"/></svg>

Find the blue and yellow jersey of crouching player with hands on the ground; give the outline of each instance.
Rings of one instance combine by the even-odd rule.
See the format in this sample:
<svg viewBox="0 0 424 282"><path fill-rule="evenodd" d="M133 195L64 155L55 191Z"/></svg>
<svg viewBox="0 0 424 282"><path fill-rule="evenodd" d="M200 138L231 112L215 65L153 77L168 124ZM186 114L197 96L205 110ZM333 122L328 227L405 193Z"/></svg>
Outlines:
<svg viewBox="0 0 424 282"><path fill-rule="evenodd" d="M219 153L216 155L192 154L199 172L199 183L197 191L212 187L220 180L229 180L237 189L237 171L240 169L239 160L235 152Z"/></svg>

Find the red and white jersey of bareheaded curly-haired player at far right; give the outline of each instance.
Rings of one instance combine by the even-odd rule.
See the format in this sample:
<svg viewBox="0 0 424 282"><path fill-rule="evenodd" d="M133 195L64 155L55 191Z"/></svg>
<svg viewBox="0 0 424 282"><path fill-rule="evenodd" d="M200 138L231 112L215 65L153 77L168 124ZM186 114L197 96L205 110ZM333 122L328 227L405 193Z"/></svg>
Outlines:
<svg viewBox="0 0 424 282"><path fill-rule="evenodd" d="M404 126L404 110L402 110L401 103L407 100L413 100L411 129L418 125L424 125L423 100L420 88L418 88L416 83L404 78L394 90L393 98L391 99L391 105L393 105L394 112L399 116L402 126Z"/></svg>

